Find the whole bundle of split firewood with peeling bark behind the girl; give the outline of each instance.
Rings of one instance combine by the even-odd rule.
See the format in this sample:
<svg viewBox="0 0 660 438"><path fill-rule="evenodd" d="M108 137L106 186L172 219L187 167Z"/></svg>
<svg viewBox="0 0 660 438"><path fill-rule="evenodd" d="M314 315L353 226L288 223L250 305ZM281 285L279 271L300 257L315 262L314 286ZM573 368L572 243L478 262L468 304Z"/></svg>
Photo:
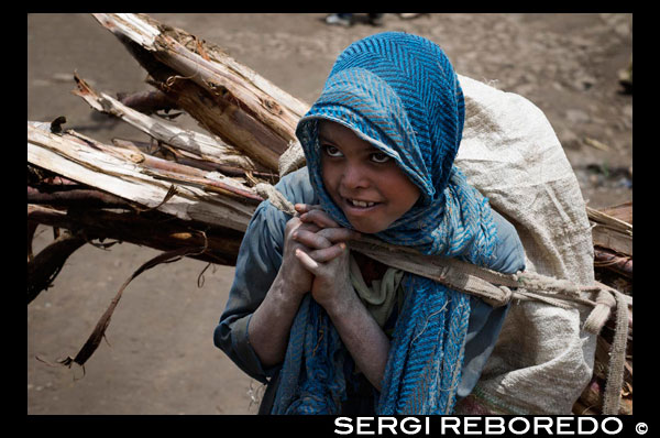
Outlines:
<svg viewBox="0 0 660 438"><path fill-rule="evenodd" d="M28 122L28 303L86 243L130 242L163 254L124 283L77 357L63 361L80 365L98 347L123 288L142 271L182 256L235 264L250 218L264 199L260 184L274 185L302 164L294 160L280 168L280 157L295 150L295 127L308 108L185 31L143 14L95 18L127 46L155 90L114 98L76 75L74 92L152 141L103 144L66 130L65 118ZM178 128L168 120L177 116L172 111L190 114L202 132ZM626 211L630 217L620 217ZM631 205L587 212L598 280L631 296ZM55 239L35 255L32 239L38 225L53 227ZM598 337L594 380L575 414L600 413L613 324ZM622 413L631 413L631 375L630 352Z"/></svg>

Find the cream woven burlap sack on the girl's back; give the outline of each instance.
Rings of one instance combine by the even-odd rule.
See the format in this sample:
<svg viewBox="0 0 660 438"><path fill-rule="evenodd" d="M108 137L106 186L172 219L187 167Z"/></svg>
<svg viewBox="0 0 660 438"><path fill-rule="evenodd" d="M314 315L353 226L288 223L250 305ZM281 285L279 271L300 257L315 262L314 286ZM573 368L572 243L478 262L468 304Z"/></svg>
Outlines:
<svg viewBox="0 0 660 438"><path fill-rule="evenodd" d="M580 186L543 112L521 96L459 77L465 128L455 161L517 229L526 269L592 284L593 243ZM514 303L493 355L457 413L570 414L588 383L596 337L586 310Z"/></svg>

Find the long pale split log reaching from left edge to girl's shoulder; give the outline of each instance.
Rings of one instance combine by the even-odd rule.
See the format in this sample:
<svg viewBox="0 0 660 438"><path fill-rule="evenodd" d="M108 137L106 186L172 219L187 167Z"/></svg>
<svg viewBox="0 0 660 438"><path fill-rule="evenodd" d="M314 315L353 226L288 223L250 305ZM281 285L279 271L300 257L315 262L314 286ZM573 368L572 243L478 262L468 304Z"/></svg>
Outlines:
<svg viewBox="0 0 660 438"><path fill-rule="evenodd" d="M187 172L204 171L177 163L168 166L176 165L179 172L164 169L156 164L157 158L146 154L101 144L74 131L54 134L30 122L28 161L144 208L157 207L183 220L240 231L245 230L261 200L250 187L222 175L205 173L204 177L190 177ZM173 187L176 194L163 204Z"/></svg>

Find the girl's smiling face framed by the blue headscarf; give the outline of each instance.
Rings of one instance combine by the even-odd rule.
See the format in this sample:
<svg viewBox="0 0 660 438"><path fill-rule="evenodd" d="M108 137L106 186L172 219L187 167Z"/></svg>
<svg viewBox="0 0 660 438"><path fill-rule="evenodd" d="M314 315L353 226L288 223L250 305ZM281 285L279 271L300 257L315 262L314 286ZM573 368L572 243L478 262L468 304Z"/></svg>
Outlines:
<svg viewBox="0 0 660 438"><path fill-rule="evenodd" d="M349 128L319 121L319 143L326 190L355 230L383 231L419 198L396 162Z"/></svg>

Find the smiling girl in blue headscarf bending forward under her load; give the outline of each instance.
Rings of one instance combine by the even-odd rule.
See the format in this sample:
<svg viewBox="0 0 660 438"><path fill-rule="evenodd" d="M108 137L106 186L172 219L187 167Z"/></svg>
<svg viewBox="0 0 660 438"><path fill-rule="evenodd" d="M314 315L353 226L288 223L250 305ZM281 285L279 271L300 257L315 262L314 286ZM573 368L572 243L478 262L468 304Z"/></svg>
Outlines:
<svg viewBox="0 0 660 438"><path fill-rule="evenodd" d="M442 50L387 32L350 45L296 134L307 167L245 232L215 342L267 383L260 413L449 414L479 380L507 307L349 250L373 234L514 273L510 223L453 166L463 94Z"/></svg>

